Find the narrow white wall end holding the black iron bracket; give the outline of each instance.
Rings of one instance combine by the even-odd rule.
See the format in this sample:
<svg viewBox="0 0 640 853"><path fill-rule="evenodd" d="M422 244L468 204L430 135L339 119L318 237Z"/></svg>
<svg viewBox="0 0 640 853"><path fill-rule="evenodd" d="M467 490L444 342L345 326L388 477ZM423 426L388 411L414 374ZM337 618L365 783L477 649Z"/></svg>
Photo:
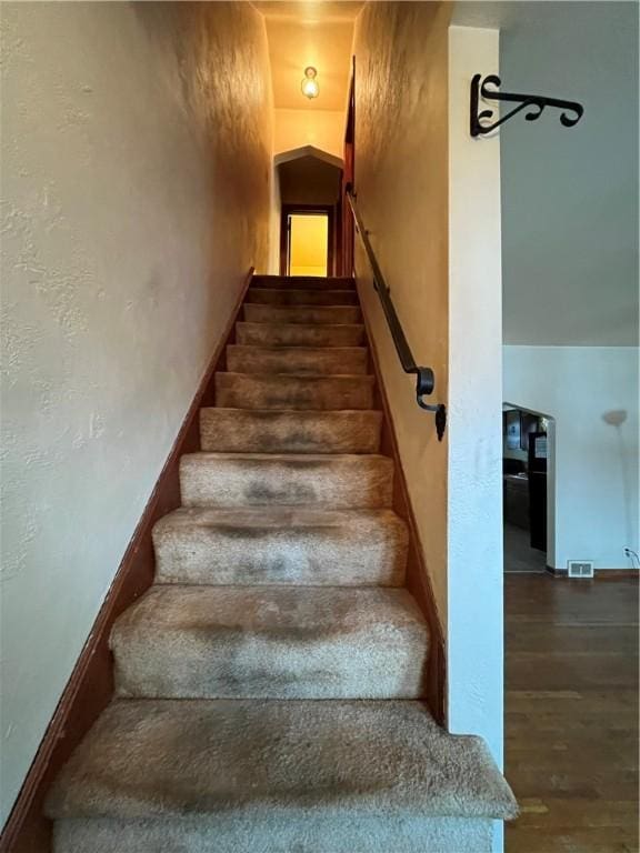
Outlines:
<svg viewBox="0 0 640 853"><path fill-rule="evenodd" d="M497 30L449 29L447 700L450 731L484 737L501 765L500 140L469 134L469 82L498 73L498 49Z"/></svg>

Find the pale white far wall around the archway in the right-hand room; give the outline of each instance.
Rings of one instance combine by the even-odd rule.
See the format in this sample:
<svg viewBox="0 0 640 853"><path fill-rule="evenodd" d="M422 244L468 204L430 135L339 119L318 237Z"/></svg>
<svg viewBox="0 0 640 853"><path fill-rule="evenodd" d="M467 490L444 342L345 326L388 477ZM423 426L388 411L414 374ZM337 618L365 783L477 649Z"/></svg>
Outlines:
<svg viewBox="0 0 640 853"><path fill-rule="evenodd" d="M556 419L554 532L548 562L630 568L638 540L638 350L504 347L504 400ZM624 411L620 425L602 415Z"/></svg>

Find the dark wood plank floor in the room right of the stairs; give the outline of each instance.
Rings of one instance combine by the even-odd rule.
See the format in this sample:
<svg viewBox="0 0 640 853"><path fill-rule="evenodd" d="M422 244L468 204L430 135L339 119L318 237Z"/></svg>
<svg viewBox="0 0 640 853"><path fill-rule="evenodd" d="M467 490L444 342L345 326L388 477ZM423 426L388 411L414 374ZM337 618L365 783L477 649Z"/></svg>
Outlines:
<svg viewBox="0 0 640 853"><path fill-rule="evenodd" d="M638 853L638 582L504 584L507 853Z"/></svg>

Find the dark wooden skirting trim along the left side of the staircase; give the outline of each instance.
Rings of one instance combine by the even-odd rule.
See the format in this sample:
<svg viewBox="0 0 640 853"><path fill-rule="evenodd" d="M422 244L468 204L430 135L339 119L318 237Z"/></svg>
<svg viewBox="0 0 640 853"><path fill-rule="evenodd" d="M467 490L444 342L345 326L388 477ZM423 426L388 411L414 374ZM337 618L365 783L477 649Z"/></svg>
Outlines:
<svg viewBox="0 0 640 853"><path fill-rule="evenodd" d="M180 505L180 458L200 450L200 409L213 403L213 375L224 368L226 348L233 342L236 322L253 274L251 267L22 783L0 836L0 853L51 851L52 822L42 814L44 796L62 764L113 695L113 662L109 651L111 626L153 582L151 530L158 519Z"/></svg>

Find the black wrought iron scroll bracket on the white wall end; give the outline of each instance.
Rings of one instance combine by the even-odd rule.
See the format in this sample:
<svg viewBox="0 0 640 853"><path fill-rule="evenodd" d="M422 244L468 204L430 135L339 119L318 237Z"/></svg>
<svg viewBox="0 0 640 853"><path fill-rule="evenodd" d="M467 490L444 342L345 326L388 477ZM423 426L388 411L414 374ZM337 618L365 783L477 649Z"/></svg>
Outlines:
<svg viewBox="0 0 640 853"><path fill-rule="evenodd" d="M480 137L484 133L490 133L496 128L503 124L513 116L518 114L522 110L530 108L530 111L524 114L527 121L536 121L544 112L546 107L554 107L558 110L564 110L573 112L574 116L568 116L567 112L562 112L560 116L560 123L566 128L572 128L578 124L584 112L584 108L577 101L560 101L558 98L546 98L540 94L514 94L511 92L499 92L497 89L500 87L500 78L497 74L488 74L482 82L482 74L474 74L471 80L471 136ZM496 89L487 89L487 86L496 87ZM516 109L502 116L498 121L493 121L491 124L482 123L483 119L491 119L493 110L478 111L480 98L491 101L511 101L518 103Z"/></svg>

